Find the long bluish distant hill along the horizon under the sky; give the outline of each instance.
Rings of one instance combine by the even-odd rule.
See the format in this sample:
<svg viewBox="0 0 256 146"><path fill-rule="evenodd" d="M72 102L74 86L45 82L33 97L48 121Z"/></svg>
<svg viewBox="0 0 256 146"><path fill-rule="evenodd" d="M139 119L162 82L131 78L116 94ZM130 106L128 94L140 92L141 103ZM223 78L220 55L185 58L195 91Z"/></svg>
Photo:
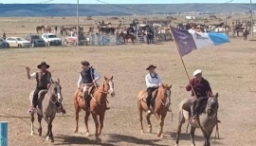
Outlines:
<svg viewBox="0 0 256 146"><path fill-rule="evenodd" d="M76 16L75 4L0 4L0 16ZM253 5L252 9L256 9ZM81 4L81 16L118 16L139 13L176 12L230 13L249 12L249 4L134 4L93 5Z"/></svg>

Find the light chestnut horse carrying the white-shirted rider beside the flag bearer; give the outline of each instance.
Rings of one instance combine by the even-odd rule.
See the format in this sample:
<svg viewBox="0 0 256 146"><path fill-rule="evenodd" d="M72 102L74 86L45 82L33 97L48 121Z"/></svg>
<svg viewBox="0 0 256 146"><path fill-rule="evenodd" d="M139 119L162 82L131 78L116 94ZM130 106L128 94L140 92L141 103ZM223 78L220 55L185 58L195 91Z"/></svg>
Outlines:
<svg viewBox="0 0 256 146"><path fill-rule="evenodd" d="M164 119L167 115L168 108L171 103L171 88L172 85L168 86L161 84L158 89L153 93L153 113L155 114L155 119L159 121L160 130L157 133L157 137L162 137ZM156 95L155 95L156 94ZM146 103L147 92L145 90L139 91L137 95L137 107L139 112L139 121L141 126L141 133L144 133L143 124L142 124L142 112L148 110ZM152 124L150 121L151 114L148 114L146 119L149 126L149 133L152 133Z"/></svg>

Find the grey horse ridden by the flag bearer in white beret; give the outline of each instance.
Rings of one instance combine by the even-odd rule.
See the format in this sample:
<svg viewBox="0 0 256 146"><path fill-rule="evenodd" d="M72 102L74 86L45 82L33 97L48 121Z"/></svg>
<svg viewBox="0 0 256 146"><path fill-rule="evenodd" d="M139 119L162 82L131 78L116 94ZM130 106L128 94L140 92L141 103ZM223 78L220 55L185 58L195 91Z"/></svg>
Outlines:
<svg viewBox="0 0 256 146"><path fill-rule="evenodd" d="M200 103L201 102L201 103ZM218 93L216 93L215 96L212 96L210 98L203 98L201 99L198 104L201 104L200 109L198 109L198 114L196 117L196 122L193 123L191 120L189 120L191 124L191 140L192 140L192 146L195 146L194 144L194 131L196 128L200 128L204 137L205 137L205 144L204 146L210 146L210 135L213 131L213 128L216 125L216 132L217 132L217 112L218 112ZM187 98L180 102L178 107L178 128L177 128L177 134L176 134L176 144L175 146L178 146L179 143L179 135L181 132L181 126L183 123L185 123L186 119L190 119L190 104L191 99ZM205 105L205 106L203 106Z"/></svg>

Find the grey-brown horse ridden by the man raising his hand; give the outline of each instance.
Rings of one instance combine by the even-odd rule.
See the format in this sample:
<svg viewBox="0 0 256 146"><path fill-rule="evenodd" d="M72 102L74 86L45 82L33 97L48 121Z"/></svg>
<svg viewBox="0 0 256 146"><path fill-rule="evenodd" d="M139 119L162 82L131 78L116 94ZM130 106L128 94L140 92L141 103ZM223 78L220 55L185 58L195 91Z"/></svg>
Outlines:
<svg viewBox="0 0 256 146"><path fill-rule="evenodd" d="M54 138L52 135L52 121L55 118L57 112L56 102L62 102L62 87L60 85L60 80L58 82L51 82L49 85L48 90L42 90L39 92L38 98L38 109L37 109L37 116L39 122L39 129L38 133L39 136L42 136L42 125L41 120L44 118L48 124L47 126L47 133L46 133L46 140L50 140L54 142ZM30 93L29 99L30 103L32 104L34 91ZM31 113L31 136L34 135L34 113Z"/></svg>

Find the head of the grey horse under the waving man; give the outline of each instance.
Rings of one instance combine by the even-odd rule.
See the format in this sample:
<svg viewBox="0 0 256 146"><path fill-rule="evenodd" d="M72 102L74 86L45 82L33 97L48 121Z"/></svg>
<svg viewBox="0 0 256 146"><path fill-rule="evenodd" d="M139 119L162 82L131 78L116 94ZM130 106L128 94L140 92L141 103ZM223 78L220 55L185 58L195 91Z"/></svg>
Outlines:
<svg viewBox="0 0 256 146"><path fill-rule="evenodd" d="M60 79L58 78L57 82L51 81L51 84L49 86L49 91L51 92L52 95L56 98L58 102L63 101L63 96L62 96L62 86L60 84Z"/></svg>

